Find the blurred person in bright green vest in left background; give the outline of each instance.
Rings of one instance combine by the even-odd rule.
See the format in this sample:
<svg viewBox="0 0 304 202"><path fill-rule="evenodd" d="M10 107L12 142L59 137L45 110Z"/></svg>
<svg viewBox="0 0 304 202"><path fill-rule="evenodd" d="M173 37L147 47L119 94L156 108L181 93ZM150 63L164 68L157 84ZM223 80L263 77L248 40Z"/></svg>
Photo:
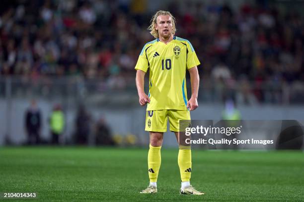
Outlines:
<svg viewBox="0 0 304 202"><path fill-rule="evenodd" d="M52 144L59 144L65 128L65 115L60 104L56 104L50 116Z"/></svg>

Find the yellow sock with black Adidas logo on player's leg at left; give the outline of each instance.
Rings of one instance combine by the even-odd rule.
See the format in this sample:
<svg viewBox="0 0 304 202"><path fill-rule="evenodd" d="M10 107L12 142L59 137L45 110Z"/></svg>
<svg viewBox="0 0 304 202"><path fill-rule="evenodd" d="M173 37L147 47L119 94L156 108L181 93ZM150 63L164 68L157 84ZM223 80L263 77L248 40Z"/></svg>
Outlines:
<svg viewBox="0 0 304 202"><path fill-rule="evenodd" d="M153 147L150 145L148 152L148 169L150 182L157 182L157 176L161 162L160 149L161 147Z"/></svg>

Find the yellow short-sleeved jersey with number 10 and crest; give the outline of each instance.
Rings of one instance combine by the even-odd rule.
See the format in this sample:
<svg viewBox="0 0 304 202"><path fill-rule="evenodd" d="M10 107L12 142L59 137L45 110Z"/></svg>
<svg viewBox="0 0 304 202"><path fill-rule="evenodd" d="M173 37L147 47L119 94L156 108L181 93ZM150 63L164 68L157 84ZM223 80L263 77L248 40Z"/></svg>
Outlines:
<svg viewBox="0 0 304 202"><path fill-rule="evenodd" d="M187 110L186 69L200 64L191 43L173 37L168 44L155 39L140 53L136 70L150 68L147 110Z"/></svg>

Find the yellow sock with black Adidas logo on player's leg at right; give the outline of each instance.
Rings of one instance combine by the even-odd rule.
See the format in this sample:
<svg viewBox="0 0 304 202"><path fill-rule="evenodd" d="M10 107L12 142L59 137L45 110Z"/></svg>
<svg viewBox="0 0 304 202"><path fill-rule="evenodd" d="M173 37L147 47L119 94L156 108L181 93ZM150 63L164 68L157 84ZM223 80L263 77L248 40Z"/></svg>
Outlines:
<svg viewBox="0 0 304 202"><path fill-rule="evenodd" d="M178 166L182 182L188 182L191 178L191 149L180 146L178 151Z"/></svg>

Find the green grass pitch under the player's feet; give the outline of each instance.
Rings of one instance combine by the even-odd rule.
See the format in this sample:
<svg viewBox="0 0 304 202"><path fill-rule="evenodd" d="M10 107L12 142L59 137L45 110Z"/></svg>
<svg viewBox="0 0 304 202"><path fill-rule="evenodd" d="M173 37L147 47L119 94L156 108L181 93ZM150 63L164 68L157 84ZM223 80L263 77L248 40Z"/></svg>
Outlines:
<svg viewBox="0 0 304 202"><path fill-rule="evenodd" d="M205 196L179 195L177 152L162 149L158 193L143 195L148 149L4 147L0 193L35 192L25 201L36 202L304 200L303 152L193 151L191 184Z"/></svg>

